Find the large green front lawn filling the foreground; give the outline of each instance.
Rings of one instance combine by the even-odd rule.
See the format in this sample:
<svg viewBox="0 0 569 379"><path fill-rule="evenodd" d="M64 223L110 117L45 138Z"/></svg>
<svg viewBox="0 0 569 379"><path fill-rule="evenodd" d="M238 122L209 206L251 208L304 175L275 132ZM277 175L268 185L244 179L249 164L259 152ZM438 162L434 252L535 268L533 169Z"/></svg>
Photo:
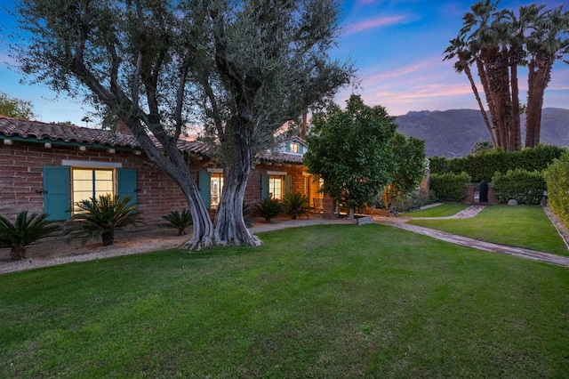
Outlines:
<svg viewBox="0 0 569 379"><path fill-rule="evenodd" d="M564 377L569 271L388 226L0 277L0 376Z"/></svg>

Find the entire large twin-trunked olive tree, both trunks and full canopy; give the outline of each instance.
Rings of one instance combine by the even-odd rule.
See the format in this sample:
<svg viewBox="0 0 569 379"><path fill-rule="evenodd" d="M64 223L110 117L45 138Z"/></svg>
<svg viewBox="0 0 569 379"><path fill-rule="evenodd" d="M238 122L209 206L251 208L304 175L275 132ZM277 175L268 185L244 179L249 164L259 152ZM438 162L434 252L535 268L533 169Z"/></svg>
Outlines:
<svg viewBox="0 0 569 379"><path fill-rule="evenodd" d="M242 211L255 159L284 120L352 75L326 54L340 12L332 0L22 0L18 12L29 35L12 46L20 69L124 122L187 198L189 248L260 243ZM177 149L196 122L225 166L215 232Z"/></svg>

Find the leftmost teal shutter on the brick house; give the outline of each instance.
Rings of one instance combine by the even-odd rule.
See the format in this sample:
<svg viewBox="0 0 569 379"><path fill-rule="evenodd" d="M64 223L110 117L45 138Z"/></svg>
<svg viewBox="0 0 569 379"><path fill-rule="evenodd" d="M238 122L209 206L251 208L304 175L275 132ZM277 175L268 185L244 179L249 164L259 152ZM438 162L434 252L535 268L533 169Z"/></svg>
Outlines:
<svg viewBox="0 0 569 379"><path fill-rule="evenodd" d="M70 173L68 166L44 166L44 213L47 220L63 221L70 217Z"/></svg>

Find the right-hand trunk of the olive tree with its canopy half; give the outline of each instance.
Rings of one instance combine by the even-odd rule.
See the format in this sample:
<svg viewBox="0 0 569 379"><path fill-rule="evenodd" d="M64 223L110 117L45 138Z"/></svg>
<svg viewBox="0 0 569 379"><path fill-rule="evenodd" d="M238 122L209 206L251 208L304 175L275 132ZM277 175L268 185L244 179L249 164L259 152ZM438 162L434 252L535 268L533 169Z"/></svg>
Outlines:
<svg viewBox="0 0 569 379"><path fill-rule="evenodd" d="M196 4L198 3L198 4ZM339 29L336 0L188 2L199 17L192 35L211 49L194 53L202 123L224 165L214 238L258 245L243 219L244 190L255 159L274 145L286 121L349 83L349 63L328 51Z"/></svg>

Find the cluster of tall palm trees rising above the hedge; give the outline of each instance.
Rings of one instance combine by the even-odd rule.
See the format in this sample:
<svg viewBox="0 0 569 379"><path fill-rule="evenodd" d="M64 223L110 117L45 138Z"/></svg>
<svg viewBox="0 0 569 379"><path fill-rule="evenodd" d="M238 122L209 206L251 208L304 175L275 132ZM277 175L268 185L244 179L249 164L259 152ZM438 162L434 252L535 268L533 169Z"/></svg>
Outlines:
<svg viewBox="0 0 569 379"><path fill-rule="evenodd" d="M458 58L455 70L469 77L494 146L519 150L523 106L519 101L518 66L530 68L525 146L533 147L539 142L539 135L537 139L533 135L540 131L550 69L569 51L568 13L562 7L544 10L545 5L531 4L521 6L516 15L509 9L498 10L499 3L485 0L471 6L470 12L464 14L459 35L445 50L445 60ZM535 58L538 55L540 58ZM473 65L484 89L492 126L471 75Z"/></svg>

